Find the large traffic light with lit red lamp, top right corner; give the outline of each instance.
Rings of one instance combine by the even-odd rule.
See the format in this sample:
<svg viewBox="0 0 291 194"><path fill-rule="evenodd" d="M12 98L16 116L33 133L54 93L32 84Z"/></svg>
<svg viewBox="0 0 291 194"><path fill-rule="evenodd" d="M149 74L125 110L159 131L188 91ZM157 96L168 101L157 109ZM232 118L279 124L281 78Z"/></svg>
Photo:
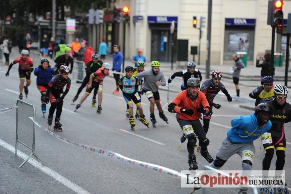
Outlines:
<svg viewBox="0 0 291 194"><path fill-rule="evenodd" d="M283 25L283 11L282 8L284 6L283 1L269 1L268 6L268 25L272 25L275 27L282 27Z"/></svg>

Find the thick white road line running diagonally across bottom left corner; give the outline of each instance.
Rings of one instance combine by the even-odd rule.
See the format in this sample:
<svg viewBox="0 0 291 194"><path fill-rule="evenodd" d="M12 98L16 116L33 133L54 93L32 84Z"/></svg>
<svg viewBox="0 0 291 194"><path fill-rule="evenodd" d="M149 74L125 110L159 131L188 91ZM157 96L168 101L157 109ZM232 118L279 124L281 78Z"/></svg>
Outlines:
<svg viewBox="0 0 291 194"><path fill-rule="evenodd" d="M4 142L1 139L0 139L0 145L4 148L8 149L13 154L15 154L15 147L13 147L12 145ZM28 156L20 150L17 150L17 156L19 156L23 160L26 160L26 158L28 158ZM81 188L80 186L74 184L72 181L63 177L61 174L58 174L57 172L50 169L49 167L42 166L42 164L39 161L37 161L33 158L29 158L29 160L27 162L30 163L31 165L33 165L34 167L38 168L39 170L41 170L45 174L51 176L53 179L59 181L61 184L70 188L72 191L75 191L76 193L89 194L88 191L86 191L85 189Z"/></svg>

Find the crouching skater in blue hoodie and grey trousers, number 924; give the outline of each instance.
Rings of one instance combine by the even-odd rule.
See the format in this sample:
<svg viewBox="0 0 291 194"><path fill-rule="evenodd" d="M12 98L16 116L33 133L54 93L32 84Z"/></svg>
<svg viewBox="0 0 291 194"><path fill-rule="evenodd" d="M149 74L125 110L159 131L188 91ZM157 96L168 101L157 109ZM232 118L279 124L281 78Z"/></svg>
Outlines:
<svg viewBox="0 0 291 194"><path fill-rule="evenodd" d="M242 158L243 171L247 170L243 173L250 172L255 154L253 141L270 130L271 115L272 107L269 104L261 103L257 106L255 113L231 119L232 128L228 130L227 137L218 149L215 160L209 166L219 169L228 158L238 154ZM246 193L247 188L240 188L239 194Z"/></svg>

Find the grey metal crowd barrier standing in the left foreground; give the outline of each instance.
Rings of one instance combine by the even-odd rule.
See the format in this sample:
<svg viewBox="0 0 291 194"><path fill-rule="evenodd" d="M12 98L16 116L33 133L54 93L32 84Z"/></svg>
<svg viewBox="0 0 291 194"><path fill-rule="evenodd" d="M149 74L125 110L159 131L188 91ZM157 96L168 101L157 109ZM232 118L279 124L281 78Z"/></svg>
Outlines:
<svg viewBox="0 0 291 194"><path fill-rule="evenodd" d="M34 153L35 151L35 123L29 118L36 120L36 109L34 105L17 100L16 103L16 140L15 140L15 155L17 155L17 144L20 143L30 149L32 152L29 157L19 166L22 167L28 159L33 155L40 161ZM40 161L44 166L44 164Z"/></svg>

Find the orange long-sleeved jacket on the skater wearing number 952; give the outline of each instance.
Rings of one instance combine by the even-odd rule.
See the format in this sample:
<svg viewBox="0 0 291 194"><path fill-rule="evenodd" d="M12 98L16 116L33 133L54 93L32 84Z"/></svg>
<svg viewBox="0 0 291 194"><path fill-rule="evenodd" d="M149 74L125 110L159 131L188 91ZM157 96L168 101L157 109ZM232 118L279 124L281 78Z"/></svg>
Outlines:
<svg viewBox="0 0 291 194"><path fill-rule="evenodd" d="M175 112L178 114L176 117L178 119L184 119L187 121L193 121L193 120L197 120L200 119L200 112L196 112L196 109L201 107L201 105L204 105L204 108L206 111L209 111L208 108L206 108L207 106L209 106L209 103L205 97L205 94L203 94L203 92L198 91L198 96L197 98L192 101L191 98L189 98L187 96L188 90L183 90L181 91L173 100L172 103L174 103L175 105ZM190 108L194 110L194 114L192 115L188 115L188 114L181 114L180 109L181 108Z"/></svg>

